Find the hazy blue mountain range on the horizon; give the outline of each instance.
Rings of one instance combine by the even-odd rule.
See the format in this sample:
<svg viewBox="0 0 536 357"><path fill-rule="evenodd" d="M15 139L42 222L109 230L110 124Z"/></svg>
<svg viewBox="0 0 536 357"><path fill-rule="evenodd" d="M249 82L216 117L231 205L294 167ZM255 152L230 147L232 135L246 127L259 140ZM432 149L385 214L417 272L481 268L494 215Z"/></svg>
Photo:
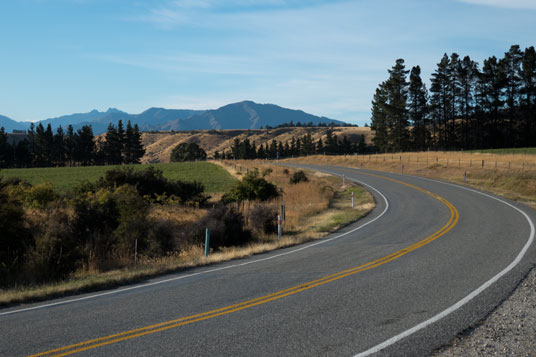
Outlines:
<svg viewBox="0 0 536 357"><path fill-rule="evenodd" d="M105 112L92 110L89 113L77 113L50 118L34 123L50 124L53 130L60 125L65 129L72 125L79 129L84 125L91 125L93 133L98 135L106 132L109 123L117 125L119 120L123 124L130 120L132 125L138 124L141 131L161 130L200 130L200 129L258 129L260 127L298 122L317 125L319 123L337 125L345 124L342 121L318 117L301 110L293 110L274 104L258 104L252 101L242 101L228 104L213 110L164 109L150 108L140 114L129 114L121 110L110 108ZM28 129L30 122L17 122L0 115L0 127L6 132Z"/></svg>

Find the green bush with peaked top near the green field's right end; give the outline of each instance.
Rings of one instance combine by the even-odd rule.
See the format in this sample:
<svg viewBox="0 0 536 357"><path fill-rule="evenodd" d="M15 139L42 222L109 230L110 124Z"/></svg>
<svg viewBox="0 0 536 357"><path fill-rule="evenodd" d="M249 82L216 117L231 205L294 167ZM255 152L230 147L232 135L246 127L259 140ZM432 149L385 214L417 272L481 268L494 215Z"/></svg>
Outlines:
<svg viewBox="0 0 536 357"><path fill-rule="evenodd" d="M237 201L267 201L279 196L277 186L259 176L259 170L250 171L237 182L231 191L222 197L224 203Z"/></svg>

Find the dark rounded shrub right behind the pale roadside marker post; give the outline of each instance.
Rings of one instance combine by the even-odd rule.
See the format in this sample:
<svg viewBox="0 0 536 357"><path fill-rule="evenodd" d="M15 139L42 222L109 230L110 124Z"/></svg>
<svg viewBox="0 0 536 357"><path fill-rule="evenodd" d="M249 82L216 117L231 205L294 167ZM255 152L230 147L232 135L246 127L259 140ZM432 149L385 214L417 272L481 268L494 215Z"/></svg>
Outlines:
<svg viewBox="0 0 536 357"><path fill-rule="evenodd" d="M244 245L251 241L251 232L244 228L244 216L233 207L218 206L193 224L190 240L205 243L205 229L210 228L210 247Z"/></svg>

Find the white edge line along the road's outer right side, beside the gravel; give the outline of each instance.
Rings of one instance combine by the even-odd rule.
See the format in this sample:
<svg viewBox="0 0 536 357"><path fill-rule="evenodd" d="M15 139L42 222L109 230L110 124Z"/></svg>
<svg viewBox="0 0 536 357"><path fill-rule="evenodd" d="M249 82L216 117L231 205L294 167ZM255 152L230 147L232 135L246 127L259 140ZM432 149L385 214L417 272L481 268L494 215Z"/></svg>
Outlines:
<svg viewBox="0 0 536 357"><path fill-rule="evenodd" d="M410 175L407 175L407 176L410 176ZM510 272L517 264L519 264L519 262L521 261L521 259L523 259L523 257L525 256L527 250L531 246L532 242L534 241L534 231L535 231L534 223L530 219L529 215L526 214L520 208L518 208L518 207L516 207L516 206L514 206L514 205L512 205L512 204L510 204L510 203L508 203L506 201L503 201L500 198L497 198L497 197L494 197L492 195L488 195L488 194L486 194L484 192L473 190L471 188L467 188L467 187L464 187L464 186L460 186L460 185L456 185L456 184L449 183L449 182L444 182L444 181L432 180L432 179L429 179L429 178L426 178L426 177L419 177L419 176L411 176L411 177L418 178L418 179L424 179L424 180L428 180L428 181L432 181L432 182L439 182L439 183L442 183L442 184L445 184L445 185L450 185L450 186L462 188L464 190L468 190L468 191L475 192L475 193L478 193L480 195L492 198L492 199L494 199L496 201L504 203L507 206L512 207L513 209L515 209L516 211L521 213L526 218L526 220L529 222L529 226L530 226L529 239L527 240L527 242L523 246L523 249L521 249L521 251L519 252L517 257L506 268L504 268L497 275L495 275L494 277L492 277L491 279L486 281L484 284L479 286L476 290L471 292L469 295L467 295L466 297L464 297L463 299L461 299L460 301L458 301L454 305L452 305L452 306L448 307L447 309L441 311L439 314L429 318L428 320L423 321L420 324L410 328L409 330L406 330L406 331L404 331L404 332L402 332L402 333L400 333L400 334L398 334L396 336L391 337L390 339L388 339L385 342L380 343L379 345L376 345L376 346L374 346L374 347L372 347L372 348L370 348L370 349L368 349L368 350L366 350L364 352L358 353L357 355L355 355L355 357L370 356L373 353L377 353L377 352L379 352L379 351L381 351L381 350L383 350L383 349L385 349L385 348L397 343L398 341L400 341L400 340L402 340L402 339L414 334L415 332L417 332L419 330L422 330L423 328L425 328L425 327L427 327L427 326L429 326L429 325L441 320L442 318L444 318L445 316L451 314L452 312L458 310L463 305L467 304L469 301L474 299L481 292L483 292L484 290L489 288L492 284L497 282L500 278L502 278L508 272Z"/></svg>

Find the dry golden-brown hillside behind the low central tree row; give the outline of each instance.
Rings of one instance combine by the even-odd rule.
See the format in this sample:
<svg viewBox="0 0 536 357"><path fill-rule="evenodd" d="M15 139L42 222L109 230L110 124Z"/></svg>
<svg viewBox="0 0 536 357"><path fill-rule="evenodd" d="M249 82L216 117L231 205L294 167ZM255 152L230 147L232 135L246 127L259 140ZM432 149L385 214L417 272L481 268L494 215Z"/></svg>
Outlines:
<svg viewBox="0 0 536 357"><path fill-rule="evenodd" d="M322 138L325 141L327 127L293 127L276 129L236 129L236 130L194 130L178 132L143 133L142 142L145 146L145 155L142 163L169 162L171 150L184 142L196 143L212 157L216 151L230 150L234 139L240 141L248 138L255 145L264 145L273 139L283 143L295 138L303 137L311 133L313 141ZM358 142L361 135L365 135L365 141L371 143L371 131L368 127L335 127L334 134L342 140L344 136L351 142Z"/></svg>

